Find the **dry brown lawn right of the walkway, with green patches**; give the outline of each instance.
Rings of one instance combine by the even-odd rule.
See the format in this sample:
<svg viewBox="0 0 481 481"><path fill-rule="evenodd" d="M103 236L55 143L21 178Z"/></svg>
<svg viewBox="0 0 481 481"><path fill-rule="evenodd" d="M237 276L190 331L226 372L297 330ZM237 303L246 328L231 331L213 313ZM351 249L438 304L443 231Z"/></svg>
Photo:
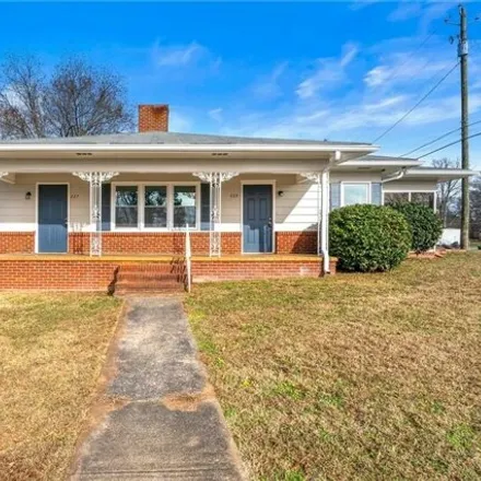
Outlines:
<svg viewBox="0 0 481 481"><path fill-rule="evenodd" d="M481 479L481 254L187 308L253 479Z"/></svg>

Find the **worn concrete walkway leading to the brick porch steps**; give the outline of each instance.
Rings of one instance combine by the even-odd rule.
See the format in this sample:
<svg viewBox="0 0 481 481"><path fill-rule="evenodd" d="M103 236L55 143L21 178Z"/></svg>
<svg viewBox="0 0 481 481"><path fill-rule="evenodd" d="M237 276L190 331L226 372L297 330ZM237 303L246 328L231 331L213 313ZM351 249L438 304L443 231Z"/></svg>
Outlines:
<svg viewBox="0 0 481 481"><path fill-rule="evenodd" d="M73 480L242 480L175 297L131 297Z"/></svg>

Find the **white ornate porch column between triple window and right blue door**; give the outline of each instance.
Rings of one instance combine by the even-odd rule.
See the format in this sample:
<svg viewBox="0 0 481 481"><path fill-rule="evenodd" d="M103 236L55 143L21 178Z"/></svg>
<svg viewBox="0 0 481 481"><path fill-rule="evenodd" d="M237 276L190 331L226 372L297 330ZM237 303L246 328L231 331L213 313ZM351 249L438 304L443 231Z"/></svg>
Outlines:
<svg viewBox="0 0 481 481"><path fill-rule="evenodd" d="M209 255L221 257L222 183L231 180L238 174L236 172L195 172L192 175L210 185Z"/></svg>

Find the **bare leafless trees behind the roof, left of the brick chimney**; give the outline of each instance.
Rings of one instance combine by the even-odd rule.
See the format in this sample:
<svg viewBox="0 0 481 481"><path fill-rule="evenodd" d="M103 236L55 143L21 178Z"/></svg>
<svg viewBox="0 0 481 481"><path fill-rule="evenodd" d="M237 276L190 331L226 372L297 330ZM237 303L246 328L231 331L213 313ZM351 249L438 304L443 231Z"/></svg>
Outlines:
<svg viewBox="0 0 481 481"><path fill-rule="evenodd" d="M2 138L117 133L133 126L122 79L81 58L47 77L35 57L9 57L0 74Z"/></svg>

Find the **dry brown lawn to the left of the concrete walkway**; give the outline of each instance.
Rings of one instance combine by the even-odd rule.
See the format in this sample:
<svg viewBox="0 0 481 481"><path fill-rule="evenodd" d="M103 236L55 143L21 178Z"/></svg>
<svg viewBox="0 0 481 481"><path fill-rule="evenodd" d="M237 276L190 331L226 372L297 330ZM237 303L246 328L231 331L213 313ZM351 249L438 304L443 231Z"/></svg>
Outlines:
<svg viewBox="0 0 481 481"><path fill-rule="evenodd" d="M0 479L64 479L119 309L105 295L0 294Z"/></svg>

